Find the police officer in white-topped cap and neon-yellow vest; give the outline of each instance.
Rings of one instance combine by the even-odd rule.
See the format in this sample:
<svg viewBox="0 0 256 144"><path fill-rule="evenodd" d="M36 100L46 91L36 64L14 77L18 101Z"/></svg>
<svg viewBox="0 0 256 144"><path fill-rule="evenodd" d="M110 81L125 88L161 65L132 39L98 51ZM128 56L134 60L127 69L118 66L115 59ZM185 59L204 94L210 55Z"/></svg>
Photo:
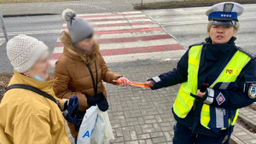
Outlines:
<svg viewBox="0 0 256 144"><path fill-rule="evenodd" d="M229 143L238 108L255 99L255 56L236 46L239 3L217 3L207 10L209 37L191 45L177 68L145 84L160 89L181 84L172 112L174 144Z"/></svg>

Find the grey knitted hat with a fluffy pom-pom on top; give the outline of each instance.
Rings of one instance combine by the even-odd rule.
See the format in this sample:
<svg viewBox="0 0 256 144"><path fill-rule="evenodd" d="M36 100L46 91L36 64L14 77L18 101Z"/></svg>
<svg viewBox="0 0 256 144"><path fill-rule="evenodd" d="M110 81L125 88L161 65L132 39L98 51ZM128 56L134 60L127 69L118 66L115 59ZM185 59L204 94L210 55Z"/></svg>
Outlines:
<svg viewBox="0 0 256 144"><path fill-rule="evenodd" d="M62 19L67 21L67 29L73 43L82 41L93 34L90 24L86 20L76 17L76 13L72 9L63 10Z"/></svg>

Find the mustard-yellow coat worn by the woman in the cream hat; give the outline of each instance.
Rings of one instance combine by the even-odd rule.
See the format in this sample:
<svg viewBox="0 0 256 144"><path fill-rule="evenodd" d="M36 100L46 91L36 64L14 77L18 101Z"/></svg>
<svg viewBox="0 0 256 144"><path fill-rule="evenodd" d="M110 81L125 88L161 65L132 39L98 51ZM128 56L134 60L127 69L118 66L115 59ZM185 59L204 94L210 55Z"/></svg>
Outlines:
<svg viewBox="0 0 256 144"><path fill-rule="evenodd" d="M39 82L15 72L11 84L27 84L54 95L53 81ZM11 89L0 104L1 144L70 144L55 102L26 89Z"/></svg>

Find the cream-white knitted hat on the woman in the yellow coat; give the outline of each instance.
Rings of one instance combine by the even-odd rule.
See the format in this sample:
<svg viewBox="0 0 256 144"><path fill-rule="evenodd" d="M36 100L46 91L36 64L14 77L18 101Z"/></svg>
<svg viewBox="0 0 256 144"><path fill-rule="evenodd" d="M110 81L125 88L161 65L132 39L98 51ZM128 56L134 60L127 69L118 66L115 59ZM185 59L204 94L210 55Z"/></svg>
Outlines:
<svg viewBox="0 0 256 144"><path fill-rule="evenodd" d="M6 45L7 56L17 72L26 72L49 48L34 37L20 34Z"/></svg>

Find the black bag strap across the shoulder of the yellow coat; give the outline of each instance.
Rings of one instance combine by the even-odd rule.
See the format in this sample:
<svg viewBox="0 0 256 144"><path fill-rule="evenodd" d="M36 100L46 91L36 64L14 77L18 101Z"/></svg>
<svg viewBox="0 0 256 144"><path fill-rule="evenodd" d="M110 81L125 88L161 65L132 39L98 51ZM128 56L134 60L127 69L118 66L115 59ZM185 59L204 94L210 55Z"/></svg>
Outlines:
<svg viewBox="0 0 256 144"><path fill-rule="evenodd" d="M7 92L9 89L27 89L27 90L30 90L32 92L37 93L38 95L43 95L44 97L48 98L51 101L54 101L59 106L59 101L57 101L52 95L49 95L46 92L44 92L44 91L42 91L42 90L40 90L38 88L32 87L30 85L26 85L26 84L13 84L13 85L10 85L5 90L5 92Z"/></svg>

